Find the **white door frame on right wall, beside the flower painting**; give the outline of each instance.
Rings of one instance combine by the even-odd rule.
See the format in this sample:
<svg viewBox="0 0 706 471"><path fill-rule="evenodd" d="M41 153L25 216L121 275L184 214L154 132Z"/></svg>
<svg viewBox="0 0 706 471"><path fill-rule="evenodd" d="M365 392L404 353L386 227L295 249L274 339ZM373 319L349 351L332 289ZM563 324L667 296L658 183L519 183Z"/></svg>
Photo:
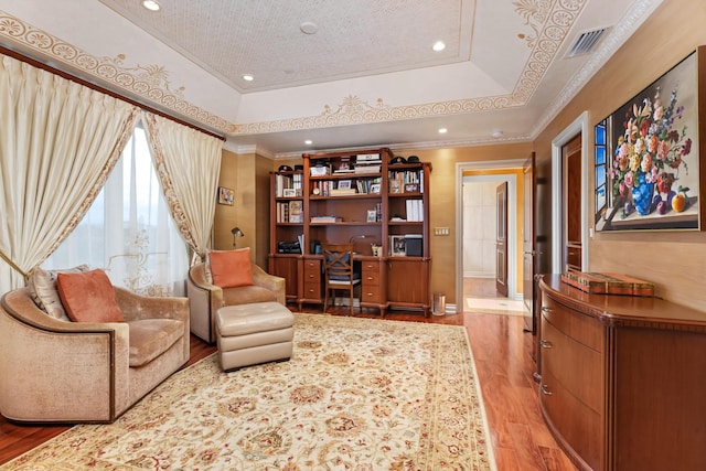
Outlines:
<svg viewBox="0 0 706 471"><path fill-rule="evenodd" d="M588 211L588 153L589 128L588 111L584 111L566 129L552 141L552 272L560 274L561 268L561 189L564 178L561 172L561 148L566 146L579 132L581 133L581 270L588 271L588 237L589 217ZM592 133L591 133L592 136Z"/></svg>

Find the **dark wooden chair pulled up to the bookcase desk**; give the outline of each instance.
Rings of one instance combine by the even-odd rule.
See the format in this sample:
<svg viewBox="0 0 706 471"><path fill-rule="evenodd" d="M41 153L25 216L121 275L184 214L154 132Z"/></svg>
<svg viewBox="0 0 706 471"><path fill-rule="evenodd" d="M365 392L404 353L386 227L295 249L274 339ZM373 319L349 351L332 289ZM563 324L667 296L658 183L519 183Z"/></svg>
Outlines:
<svg viewBox="0 0 706 471"><path fill-rule="evenodd" d="M353 291L361 283L360 275L353 270L353 244L322 244L323 271L325 293L323 297L323 312L329 308L329 292L347 290L353 315Z"/></svg>

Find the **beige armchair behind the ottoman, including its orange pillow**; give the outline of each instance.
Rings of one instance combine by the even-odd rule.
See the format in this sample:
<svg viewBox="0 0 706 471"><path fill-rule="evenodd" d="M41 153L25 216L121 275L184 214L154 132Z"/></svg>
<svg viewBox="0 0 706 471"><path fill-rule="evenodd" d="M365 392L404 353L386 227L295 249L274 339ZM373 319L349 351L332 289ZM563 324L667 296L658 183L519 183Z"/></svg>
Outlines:
<svg viewBox="0 0 706 471"><path fill-rule="evenodd" d="M249 261L249 248L237 250L212 250L206 261L196 264L189 270L186 290L191 306L191 333L208 343L216 341L216 312L224 306L248 304L253 302L276 301L286 306L285 279L269 275ZM235 282L214 280L211 264L222 256L223 269L228 272L244 270L252 278ZM238 257L240 263L232 263L227 257ZM213 268L216 268L215 266ZM221 285L221 286L218 286ZM237 285L237 286L228 286Z"/></svg>

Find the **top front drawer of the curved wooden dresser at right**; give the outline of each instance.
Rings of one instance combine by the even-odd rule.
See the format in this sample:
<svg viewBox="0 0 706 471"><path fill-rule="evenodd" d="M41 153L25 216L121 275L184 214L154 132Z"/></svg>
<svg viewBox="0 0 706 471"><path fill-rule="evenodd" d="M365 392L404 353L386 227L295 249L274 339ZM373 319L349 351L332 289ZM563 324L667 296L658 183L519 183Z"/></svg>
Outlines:
<svg viewBox="0 0 706 471"><path fill-rule="evenodd" d="M570 310L547 295L542 297L542 317L578 343L597 352L605 350L603 327L595 318Z"/></svg>

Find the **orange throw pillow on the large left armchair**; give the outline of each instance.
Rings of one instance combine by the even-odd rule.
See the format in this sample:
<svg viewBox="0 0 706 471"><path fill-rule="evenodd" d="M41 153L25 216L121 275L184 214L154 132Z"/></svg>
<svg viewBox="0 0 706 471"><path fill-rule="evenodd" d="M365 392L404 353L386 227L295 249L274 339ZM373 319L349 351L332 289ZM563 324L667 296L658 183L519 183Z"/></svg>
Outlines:
<svg viewBox="0 0 706 471"><path fill-rule="evenodd" d="M100 269L57 274L56 287L68 319L74 322L122 322L110 279Z"/></svg>

